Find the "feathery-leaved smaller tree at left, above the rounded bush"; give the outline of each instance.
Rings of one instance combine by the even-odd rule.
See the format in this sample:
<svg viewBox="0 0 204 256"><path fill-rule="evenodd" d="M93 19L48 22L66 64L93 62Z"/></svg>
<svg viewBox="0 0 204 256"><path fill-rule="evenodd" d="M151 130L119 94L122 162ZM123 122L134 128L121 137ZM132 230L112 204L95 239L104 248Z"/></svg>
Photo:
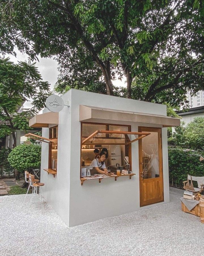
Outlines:
<svg viewBox="0 0 204 256"><path fill-rule="evenodd" d="M45 106L50 94L48 82L42 81L35 63L0 59L0 137L12 133L16 146L16 129L27 131L28 117ZM22 103L32 98L32 108L19 113Z"/></svg>

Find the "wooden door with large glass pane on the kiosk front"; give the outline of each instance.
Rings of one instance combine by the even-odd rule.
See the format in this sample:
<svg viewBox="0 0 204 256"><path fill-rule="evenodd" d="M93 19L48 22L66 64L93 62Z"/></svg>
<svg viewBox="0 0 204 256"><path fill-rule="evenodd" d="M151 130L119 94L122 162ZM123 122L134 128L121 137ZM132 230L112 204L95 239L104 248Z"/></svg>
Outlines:
<svg viewBox="0 0 204 256"><path fill-rule="evenodd" d="M161 128L139 127L151 134L139 140L140 206L163 201Z"/></svg>

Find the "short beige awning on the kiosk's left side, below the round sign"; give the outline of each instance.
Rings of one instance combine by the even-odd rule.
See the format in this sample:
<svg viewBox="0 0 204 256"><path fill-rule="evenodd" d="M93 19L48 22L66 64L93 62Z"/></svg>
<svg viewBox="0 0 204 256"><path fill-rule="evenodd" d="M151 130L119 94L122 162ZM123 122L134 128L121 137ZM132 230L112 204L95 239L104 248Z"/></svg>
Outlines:
<svg viewBox="0 0 204 256"><path fill-rule="evenodd" d="M59 113L47 112L39 115L35 115L29 120L30 127L49 127L49 124L59 123Z"/></svg>

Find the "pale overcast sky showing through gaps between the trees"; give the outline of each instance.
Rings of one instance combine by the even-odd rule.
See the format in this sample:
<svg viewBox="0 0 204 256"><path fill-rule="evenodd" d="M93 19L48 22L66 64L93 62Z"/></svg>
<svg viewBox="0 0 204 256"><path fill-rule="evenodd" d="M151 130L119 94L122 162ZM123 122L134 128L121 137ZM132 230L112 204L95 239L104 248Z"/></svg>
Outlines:
<svg viewBox="0 0 204 256"><path fill-rule="evenodd" d="M22 54L20 51L16 51L16 57L13 55L6 55L6 57L10 57L10 61L13 61L14 63L18 63L18 61L26 61L28 60L27 54ZM39 62L36 61L36 66L38 67L39 72L42 75L42 79L44 81L48 81L50 83L51 90L54 88L55 83L57 82L58 77L58 63L53 58L41 58L38 56ZM125 83L126 79L120 80L114 80L113 84L115 86L127 86ZM24 108L30 108L31 104L29 102L25 102Z"/></svg>

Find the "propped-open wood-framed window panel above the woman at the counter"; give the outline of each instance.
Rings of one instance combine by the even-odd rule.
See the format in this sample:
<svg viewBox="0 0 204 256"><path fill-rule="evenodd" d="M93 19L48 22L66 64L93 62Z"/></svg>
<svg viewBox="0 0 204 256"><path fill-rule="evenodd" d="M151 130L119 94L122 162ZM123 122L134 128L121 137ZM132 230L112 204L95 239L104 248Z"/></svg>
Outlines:
<svg viewBox="0 0 204 256"><path fill-rule="evenodd" d="M82 145L129 145L148 135L150 135L150 133L97 130L86 138L82 137ZM133 136L135 136L134 139L132 138Z"/></svg>

